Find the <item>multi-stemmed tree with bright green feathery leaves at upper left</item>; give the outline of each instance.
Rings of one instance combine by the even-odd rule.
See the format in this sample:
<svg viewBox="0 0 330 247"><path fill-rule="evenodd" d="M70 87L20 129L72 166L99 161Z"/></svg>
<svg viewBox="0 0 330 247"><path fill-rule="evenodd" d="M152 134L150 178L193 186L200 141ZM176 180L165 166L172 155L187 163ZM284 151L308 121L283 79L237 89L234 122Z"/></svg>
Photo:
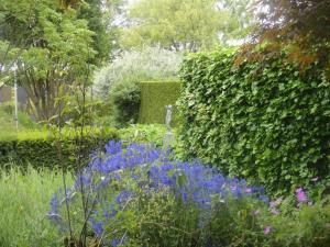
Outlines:
<svg viewBox="0 0 330 247"><path fill-rule="evenodd" d="M94 32L77 11L53 0L3 0L1 41L15 52L19 81L37 120L57 112L56 99L91 67Z"/></svg>

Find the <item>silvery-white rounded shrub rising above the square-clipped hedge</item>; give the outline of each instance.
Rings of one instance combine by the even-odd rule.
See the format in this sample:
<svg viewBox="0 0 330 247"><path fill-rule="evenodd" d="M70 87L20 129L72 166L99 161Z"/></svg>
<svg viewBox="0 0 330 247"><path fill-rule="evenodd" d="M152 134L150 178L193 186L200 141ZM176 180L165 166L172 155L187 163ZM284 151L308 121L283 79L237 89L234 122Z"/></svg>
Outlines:
<svg viewBox="0 0 330 247"><path fill-rule="evenodd" d="M175 80L182 60L182 54L156 47L124 52L96 72L96 91L99 96L109 98L116 83Z"/></svg>

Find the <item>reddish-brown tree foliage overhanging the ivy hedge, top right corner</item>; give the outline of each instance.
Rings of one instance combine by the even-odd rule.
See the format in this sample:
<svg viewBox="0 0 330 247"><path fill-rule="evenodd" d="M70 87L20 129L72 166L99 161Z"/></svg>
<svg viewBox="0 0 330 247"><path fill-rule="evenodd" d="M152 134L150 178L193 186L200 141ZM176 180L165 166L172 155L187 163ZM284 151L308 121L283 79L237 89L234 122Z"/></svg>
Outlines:
<svg viewBox="0 0 330 247"><path fill-rule="evenodd" d="M260 26L245 50L263 44L267 55L286 50L301 68L318 60L330 70L330 0L258 0L255 12Z"/></svg>

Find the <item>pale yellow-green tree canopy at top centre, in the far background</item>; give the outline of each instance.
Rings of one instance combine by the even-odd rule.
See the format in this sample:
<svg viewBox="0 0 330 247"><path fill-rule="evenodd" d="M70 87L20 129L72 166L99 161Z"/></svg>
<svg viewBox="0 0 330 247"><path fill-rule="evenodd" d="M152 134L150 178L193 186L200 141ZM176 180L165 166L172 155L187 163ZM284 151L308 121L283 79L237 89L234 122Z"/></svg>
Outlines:
<svg viewBox="0 0 330 247"><path fill-rule="evenodd" d="M140 0L129 9L122 46L161 46L196 52L223 40L244 36L252 16L249 0Z"/></svg>

